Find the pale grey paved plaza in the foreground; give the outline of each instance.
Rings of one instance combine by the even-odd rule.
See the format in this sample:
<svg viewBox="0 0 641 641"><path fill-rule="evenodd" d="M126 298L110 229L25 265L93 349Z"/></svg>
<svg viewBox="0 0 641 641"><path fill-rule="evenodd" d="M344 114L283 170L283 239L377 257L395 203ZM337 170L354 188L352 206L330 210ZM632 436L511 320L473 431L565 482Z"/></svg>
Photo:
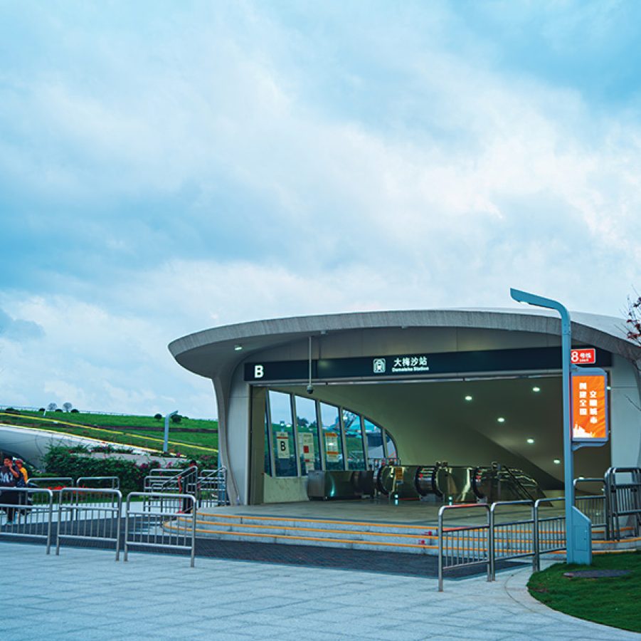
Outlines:
<svg viewBox="0 0 641 641"><path fill-rule="evenodd" d="M331 554L331 550L327 550ZM446 580L362 570L0 543L4 638L603 640L641 635L549 610L526 566ZM16 588L11 586L15 585Z"/></svg>

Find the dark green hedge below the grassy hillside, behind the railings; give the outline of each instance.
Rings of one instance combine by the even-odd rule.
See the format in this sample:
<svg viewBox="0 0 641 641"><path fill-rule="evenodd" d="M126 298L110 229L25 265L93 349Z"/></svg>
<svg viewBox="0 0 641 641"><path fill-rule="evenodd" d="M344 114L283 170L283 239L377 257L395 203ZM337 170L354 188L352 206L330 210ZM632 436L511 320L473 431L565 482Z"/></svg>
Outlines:
<svg viewBox="0 0 641 641"><path fill-rule="evenodd" d="M149 470L159 467L157 462L138 465L133 461L108 458L93 459L83 454L74 454L67 447L50 447L45 454L46 473L51 476L117 476L120 479L120 491L125 497L129 492L142 492L144 477Z"/></svg>

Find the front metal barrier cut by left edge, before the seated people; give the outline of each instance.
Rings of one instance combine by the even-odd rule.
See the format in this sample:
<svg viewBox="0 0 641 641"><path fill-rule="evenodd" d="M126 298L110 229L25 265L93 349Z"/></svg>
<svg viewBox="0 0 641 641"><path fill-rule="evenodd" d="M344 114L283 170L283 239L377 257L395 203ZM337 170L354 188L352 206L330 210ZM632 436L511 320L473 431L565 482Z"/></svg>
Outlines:
<svg viewBox="0 0 641 641"><path fill-rule="evenodd" d="M53 491L31 487L14 487L0 492L0 510L7 520L0 522L2 536L42 538L47 554L51 551Z"/></svg>

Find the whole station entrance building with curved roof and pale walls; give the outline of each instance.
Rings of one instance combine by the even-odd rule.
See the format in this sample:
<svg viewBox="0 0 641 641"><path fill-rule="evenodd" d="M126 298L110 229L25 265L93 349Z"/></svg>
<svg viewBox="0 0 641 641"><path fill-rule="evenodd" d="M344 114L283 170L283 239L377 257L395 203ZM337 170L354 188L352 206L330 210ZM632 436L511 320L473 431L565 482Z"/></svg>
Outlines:
<svg viewBox="0 0 641 641"><path fill-rule="evenodd" d="M594 348L607 372L610 413L610 441L574 454L576 476L641 465L641 348L622 327L572 313L573 347ZM331 503L344 493L310 481L359 483L381 459L413 467L393 471L404 489L418 467L423 487L434 467L439 486L460 468L509 468L550 496L563 483L560 330L521 306L344 313L211 328L169 350L213 382L232 506Z"/></svg>

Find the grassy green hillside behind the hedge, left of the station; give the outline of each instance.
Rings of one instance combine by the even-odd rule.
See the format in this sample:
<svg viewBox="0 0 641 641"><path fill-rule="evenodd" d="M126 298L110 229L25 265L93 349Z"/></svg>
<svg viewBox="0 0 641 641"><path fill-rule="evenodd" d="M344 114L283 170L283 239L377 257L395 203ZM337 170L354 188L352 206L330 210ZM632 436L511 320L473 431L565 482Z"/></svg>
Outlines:
<svg viewBox="0 0 641 641"><path fill-rule="evenodd" d="M112 416L101 414L71 414L70 412L48 412L42 417L38 412L21 412L20 415L0 412L2 422L21 427L49 429L52 432L65 432L75 436L90 437L162 450L162 432L152 431L164 423L154 417ZM100 427L109 426L109 427ZM135 428L135 429L132 429ZM147 428L147 429L145 429ZM201 429L202 432L183 432L181 428ZM182 419L180 423L169 424L169 449L186 456L202 456L218 452L218 422L203 419Z"/></svg>

